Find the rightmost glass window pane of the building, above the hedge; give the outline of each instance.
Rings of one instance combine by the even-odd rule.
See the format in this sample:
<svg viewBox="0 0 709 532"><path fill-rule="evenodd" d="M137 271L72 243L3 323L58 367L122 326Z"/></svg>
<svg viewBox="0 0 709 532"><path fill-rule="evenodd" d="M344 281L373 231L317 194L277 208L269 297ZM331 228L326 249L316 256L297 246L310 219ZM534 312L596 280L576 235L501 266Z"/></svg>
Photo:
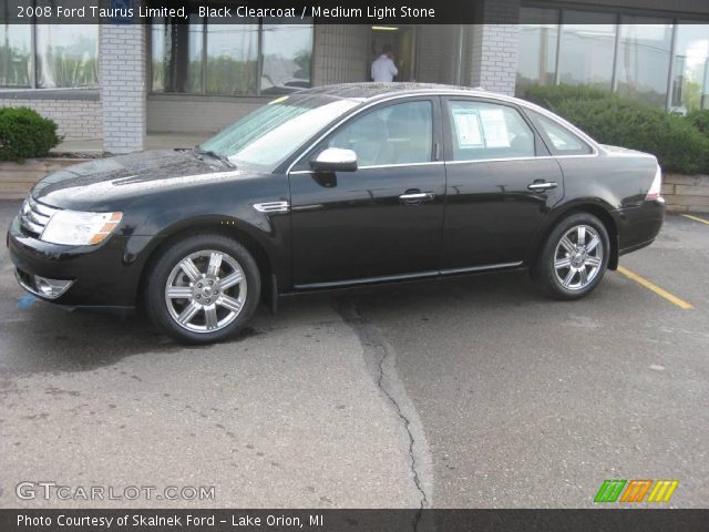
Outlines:
<svg viewBox="0 0 709 532"><path fill-rule="evenodd" d="M677 25L670 108L709 109L709 24Z"/></svg>

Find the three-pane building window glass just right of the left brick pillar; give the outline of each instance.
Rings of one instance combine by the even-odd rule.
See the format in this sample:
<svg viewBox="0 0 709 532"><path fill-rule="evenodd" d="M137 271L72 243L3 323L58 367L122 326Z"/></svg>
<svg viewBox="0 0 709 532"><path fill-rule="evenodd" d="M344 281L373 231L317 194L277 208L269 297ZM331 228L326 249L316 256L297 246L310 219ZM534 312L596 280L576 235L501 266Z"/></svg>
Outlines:
<svg viewBox="0 0 709 532"><path fill-rule="evenodd" d="M248 95L311 86L312 24L274 22L153 20L152 91Z"/></svg>

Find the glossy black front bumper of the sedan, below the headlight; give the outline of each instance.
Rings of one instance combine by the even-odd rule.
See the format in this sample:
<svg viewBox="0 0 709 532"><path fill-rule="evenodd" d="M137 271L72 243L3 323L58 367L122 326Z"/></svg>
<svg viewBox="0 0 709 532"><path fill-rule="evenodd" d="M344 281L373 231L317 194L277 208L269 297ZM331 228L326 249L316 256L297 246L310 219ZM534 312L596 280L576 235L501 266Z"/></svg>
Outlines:
<svg viewBox="0 0 709 532"><path fill-rule="evenodd" d="M17 217L7 236L19 284L41 299L71 307L135 306L140 270L127 256L126 242L113 235L97 246L49 244L28 235ZM35 276L71 284L51 297L39 289Z"/></svg>

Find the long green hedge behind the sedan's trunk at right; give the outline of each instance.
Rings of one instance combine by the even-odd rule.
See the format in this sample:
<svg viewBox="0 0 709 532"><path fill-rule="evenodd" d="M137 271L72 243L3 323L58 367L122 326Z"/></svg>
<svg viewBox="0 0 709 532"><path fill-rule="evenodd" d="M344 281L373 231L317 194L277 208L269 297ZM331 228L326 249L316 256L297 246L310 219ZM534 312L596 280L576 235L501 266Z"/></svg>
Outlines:
<svg viewBox="0 0 709 532"><path fill-rule="evenodd" d="M709 173L709 112L687 116L587 86L533 86L524 96L603 144L654 154L665 171Z"/></svg>

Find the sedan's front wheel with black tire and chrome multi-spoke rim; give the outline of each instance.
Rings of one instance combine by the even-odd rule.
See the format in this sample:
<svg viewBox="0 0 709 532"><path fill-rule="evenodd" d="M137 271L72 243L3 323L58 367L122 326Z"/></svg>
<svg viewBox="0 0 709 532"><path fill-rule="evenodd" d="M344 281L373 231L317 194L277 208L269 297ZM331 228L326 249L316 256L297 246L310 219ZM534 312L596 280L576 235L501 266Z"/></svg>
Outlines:
<svg viewBox="0 0 709 532"><path fill-rule="evenodd" d="M184 344L210 344L238 332L260 298L256 260L223 235L194 235L175 243L147 275L148 316Z"/></svg>

